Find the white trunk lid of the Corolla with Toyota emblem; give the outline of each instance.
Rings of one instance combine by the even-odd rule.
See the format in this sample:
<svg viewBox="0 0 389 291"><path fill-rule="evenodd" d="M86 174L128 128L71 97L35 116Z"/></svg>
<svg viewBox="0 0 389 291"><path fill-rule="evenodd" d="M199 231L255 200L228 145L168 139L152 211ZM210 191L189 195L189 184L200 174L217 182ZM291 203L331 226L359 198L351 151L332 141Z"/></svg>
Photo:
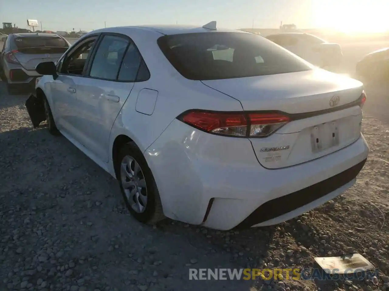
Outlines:
<svg viewBox="0 0 389 291"><path fill-rule="evenodd" d="M259 163L284 168L355 142L361 132L359 81L321 69L203 83L239 100L244 111L279 111L291 121L265 138L250 138Z"/></svg>

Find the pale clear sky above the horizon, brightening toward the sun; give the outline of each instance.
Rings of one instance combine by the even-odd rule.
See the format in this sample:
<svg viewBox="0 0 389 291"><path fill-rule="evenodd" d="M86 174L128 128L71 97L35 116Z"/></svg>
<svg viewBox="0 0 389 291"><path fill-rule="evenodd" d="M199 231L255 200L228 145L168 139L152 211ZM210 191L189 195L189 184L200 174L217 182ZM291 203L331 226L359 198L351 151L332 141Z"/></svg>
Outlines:
<svg viewBox="0 0 389 291"><path fill-rule="evenodd" d="M194 24L224 28L332 28L389 31L388 0L0 0L0 22L75 31L137 24ZM40 29L40 27L39 27Z"/></svg>

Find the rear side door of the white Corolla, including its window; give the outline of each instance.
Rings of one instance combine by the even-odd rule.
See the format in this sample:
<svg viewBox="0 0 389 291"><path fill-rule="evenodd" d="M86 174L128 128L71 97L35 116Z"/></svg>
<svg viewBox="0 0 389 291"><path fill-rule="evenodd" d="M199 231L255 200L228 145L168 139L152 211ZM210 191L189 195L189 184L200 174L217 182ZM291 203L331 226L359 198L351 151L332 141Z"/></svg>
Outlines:
<svg viewBox="0 0 389 291"><path fill-rule="evenodd" d="M142 57L128 36L102 35L91 62L88 77L78 84L77 99L82 104L81 142L103 162L109 159L109 136L117 114L137 79Z"/></svg>

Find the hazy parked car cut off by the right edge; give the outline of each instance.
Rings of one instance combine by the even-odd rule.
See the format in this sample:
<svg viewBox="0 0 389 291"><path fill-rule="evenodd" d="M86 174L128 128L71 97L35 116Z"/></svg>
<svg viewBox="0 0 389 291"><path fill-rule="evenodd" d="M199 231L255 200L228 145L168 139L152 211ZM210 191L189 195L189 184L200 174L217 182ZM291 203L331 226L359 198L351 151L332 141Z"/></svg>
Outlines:
<svg viewBox="0 0 389 291"><path fill-rule="evenodd" d="M389 47L365 55L356 65L356 74L363 81L389 82Z"/></svg>

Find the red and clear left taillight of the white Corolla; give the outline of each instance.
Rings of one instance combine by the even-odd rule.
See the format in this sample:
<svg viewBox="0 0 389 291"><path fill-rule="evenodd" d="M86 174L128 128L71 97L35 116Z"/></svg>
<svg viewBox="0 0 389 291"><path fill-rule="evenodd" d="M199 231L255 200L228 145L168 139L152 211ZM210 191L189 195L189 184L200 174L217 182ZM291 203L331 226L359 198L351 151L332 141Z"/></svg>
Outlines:
<svg viewBox="0 0 389 291"><path fill-rule="evenodd" d="M235 137L266 137L289 122L279 113L224 113L189 111L179 120L205 132Z"/></svg>

